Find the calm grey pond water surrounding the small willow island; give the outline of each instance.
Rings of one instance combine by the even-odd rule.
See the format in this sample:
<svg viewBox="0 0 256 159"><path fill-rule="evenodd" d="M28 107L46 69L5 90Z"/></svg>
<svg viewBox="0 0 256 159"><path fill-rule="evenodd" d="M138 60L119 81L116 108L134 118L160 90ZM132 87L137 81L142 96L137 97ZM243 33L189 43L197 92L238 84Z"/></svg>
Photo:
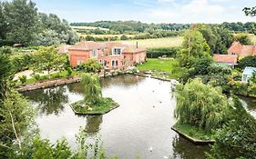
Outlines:
<svg viewBox="0 0 256 159"><path fill-rule="evenodd" d="M120 106L104 115L79 116L69 104L83 99L84 86L67 84L25 93L36 106L41 135L55 142L63 136L73 147L80 126L93 138L100 135L107 154L120 158L203 159L209 146L198 146L171 130L176 101L169 82L120 75L101 80L103 96ZM149 147L153 151L149 151Z"/></svg>

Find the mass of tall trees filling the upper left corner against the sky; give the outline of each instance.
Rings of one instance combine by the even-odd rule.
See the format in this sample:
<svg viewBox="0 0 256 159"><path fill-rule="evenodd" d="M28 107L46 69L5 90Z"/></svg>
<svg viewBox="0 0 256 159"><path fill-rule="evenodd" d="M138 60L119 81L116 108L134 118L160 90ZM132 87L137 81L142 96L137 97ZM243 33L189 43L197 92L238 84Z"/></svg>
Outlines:
<svg viewBox="0 0 256 159"><path fill-rule="evenodd" d="M72 45L78 40L67 20L39 13L28 0L0 2L0 30L0 45Z"/></svg>

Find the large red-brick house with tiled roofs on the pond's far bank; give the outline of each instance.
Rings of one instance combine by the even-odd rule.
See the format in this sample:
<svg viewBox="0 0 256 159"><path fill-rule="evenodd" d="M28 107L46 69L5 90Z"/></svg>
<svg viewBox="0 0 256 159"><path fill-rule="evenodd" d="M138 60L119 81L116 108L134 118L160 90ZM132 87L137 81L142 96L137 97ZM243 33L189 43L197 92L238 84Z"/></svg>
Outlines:
<svg viewBox="0 0 256 159"><path fill-rule="evenodd" d="M146 61L145 48L118 42L82 42L69 47L68 55L73 67L83 64L88 58L97 58L105 69L122 69Z"/></svg>

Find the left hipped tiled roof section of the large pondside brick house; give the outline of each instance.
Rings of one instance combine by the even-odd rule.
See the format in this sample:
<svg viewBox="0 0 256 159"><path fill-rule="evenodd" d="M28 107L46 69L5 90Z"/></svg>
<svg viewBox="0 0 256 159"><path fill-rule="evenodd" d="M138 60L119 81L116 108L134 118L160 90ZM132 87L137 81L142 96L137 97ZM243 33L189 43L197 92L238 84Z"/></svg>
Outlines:
<svg viewBox="0 0 256 159"><path fill-rule="evenodd" d="M84 50L84 51L88 51L88 50L93 50L93 49L99 49L101 47L102 47L102 45L100 45L100 44L98 44L96 42L87 41L87 42L79 43L77 45L73 45L73 46L69 47L68 50Z"/></svg>

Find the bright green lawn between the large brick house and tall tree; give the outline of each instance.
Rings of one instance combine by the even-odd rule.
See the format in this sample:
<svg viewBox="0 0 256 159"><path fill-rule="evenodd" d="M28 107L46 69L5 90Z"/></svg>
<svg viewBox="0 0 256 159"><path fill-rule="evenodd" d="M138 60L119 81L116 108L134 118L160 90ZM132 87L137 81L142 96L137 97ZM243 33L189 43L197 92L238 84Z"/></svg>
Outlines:
<svg viewBox="0 0 256 159"><path fill-rule="evenodd" d="M173 69L174 61L170 60L160 60L158 58L148 58L147 62L138 65L137 68L140 71L156 71L156 72L166 72L171 73Z"/></svg>

